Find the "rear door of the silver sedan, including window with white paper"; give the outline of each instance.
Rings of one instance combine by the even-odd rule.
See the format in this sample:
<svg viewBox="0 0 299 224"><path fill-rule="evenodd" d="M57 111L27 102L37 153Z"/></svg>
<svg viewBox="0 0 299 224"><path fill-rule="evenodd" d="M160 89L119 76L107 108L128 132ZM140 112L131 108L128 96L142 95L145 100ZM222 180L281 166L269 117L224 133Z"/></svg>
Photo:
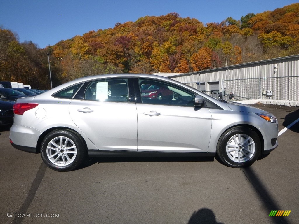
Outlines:
<svg viewBox="0 0 299 224"><path fill-rule="evenodd" d="M137 113L128 79L92 81L69 105L71 119L100 150L137 151Z"/></svg>

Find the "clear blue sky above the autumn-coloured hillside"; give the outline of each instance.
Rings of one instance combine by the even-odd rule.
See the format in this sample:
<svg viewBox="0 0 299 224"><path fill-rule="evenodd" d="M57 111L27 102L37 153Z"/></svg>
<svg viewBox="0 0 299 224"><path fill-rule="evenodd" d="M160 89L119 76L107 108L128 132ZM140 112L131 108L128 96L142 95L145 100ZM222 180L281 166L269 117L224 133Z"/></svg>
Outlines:
<svg viewBox="0 0 299 224"><path fill-rule="evenodd" d="M113 28L144 16L176 12L206 24L228 17L239 20L248 13L262 13L296 3L294 0L0 0L0 27L15 32L19 41L40 48L82 36L90 30Z"/></svg>

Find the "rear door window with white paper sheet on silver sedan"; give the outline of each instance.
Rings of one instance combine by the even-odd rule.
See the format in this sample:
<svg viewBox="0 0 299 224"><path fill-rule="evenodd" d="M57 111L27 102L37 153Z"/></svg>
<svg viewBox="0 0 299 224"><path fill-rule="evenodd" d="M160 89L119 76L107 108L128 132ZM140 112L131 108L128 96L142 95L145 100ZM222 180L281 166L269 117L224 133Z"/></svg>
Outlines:
<svg viewBox="0 0 299 224"><path fill-rule="evenodd" d="M86 100L129 102L128 79L93 81L86 88L84 96Z"/></svg>

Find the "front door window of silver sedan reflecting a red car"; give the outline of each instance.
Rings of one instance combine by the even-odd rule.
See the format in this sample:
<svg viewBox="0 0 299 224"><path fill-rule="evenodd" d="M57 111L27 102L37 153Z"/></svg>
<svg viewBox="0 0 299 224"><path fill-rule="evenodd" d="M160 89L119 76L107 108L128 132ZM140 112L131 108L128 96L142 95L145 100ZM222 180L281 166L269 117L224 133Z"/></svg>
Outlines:
<svg viewBox="0 0 299 224"><path fill-rule="evenodd" d="M142 103L194 106L194 95L181 87L150 80L139 79Z"/></svg>

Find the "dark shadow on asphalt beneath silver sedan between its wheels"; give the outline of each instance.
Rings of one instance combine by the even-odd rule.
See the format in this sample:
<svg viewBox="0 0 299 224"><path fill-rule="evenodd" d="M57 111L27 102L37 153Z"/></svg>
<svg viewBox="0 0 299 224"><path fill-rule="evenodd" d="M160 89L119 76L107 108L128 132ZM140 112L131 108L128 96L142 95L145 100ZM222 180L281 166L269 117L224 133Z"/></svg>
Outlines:
<svg viewBox="0 0 299 224"><path fill-rule="evenodd" d="M94 157L88 158L78 168L86 168L99 163L111 162L213 162L214 157Z"/></svg>

